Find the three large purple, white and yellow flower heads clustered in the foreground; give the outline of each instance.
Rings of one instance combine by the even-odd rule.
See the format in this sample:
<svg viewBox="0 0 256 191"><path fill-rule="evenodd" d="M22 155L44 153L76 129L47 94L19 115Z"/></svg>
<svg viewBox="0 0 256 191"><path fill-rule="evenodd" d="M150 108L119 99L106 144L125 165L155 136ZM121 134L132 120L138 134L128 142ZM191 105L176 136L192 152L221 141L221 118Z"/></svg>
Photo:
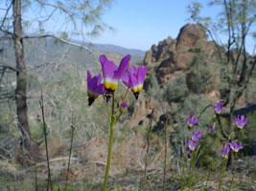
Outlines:
<svg viewBox="0 0 256 191"><path fill-rule="evenodd" d="M87 95L89 105L100 95L111 95L116 91L118 82L122 78L124 84L133 92L136 99L143 88L143 83L148 71L148 66L140 66L138 69L131 65L128 71L130 55L126 55L120 62L119 67L113 61L106 58L105 54L100 56L104 84L101 84L101 74L94 77L87 71ZM128 72L128 73L127 73Z"/></svg>

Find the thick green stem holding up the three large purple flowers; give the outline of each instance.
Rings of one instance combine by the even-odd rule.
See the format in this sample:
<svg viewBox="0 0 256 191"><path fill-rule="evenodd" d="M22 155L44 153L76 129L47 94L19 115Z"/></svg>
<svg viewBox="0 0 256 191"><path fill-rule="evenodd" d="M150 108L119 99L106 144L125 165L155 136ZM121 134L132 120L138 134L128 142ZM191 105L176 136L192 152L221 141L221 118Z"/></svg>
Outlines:
<svg viewBox="0 0 256 191"><path fill-rule="evenodd" d="M105 168L105 181L104 181L104 191L107 187L107 178L110 168L110 161L111 161L111 153L112 153L112 145L113 145L113 138L115 132L115 124L116 124L116 117L115 117L115 96L113 93L112 96L112 116L111 116L111 123L110 123L110 137L109 137L109 145L108 145L108 155L107 155L107 163Z"/></svg>

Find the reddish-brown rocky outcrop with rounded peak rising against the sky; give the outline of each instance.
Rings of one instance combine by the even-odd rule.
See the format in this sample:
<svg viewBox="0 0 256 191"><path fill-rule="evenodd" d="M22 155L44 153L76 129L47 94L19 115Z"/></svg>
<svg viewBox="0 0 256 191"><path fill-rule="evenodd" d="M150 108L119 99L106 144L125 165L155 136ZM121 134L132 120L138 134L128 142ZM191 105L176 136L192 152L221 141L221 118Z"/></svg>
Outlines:
<svg viewBox="0 0 256 191"><path fill-rule="evenodd" d="M152 45L146 53L144 62L153 68L153 73L160 85L174 78L176 71L186 73L198 54L203 54L204 64L216 58L216 46L207 41L206 34L200 25L187 24L180 29L176 39L169 36Z"/></svg>

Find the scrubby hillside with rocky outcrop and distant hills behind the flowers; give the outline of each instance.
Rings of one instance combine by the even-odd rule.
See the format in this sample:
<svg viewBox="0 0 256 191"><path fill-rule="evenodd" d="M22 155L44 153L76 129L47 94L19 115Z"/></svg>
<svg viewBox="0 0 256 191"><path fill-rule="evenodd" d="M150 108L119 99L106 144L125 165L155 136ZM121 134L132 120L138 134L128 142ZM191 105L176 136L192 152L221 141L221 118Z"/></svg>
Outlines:
<svg viewBox="0 0 256 191"><path fill-rule="evenodd" d="M14 67L12 42L8 39L2 42L0 62ZM233 138L238 135L244 143L243 150L236 156L240 160L235 160L223 172L223 187L233 186L230 176L233 174L234 188L254 189L255 71L234 108L234 116L248 117L242 132L237 131L234 118L231 127L227 125L229 105L223 107L220 115L213 108L213 102L224 102L229 98L226 79L229 76L227 71L232 66L221 63L218 50L225 55L225 49L210 41L200 25L185 25L176 38L169 36L163 39L152 45L146 54L114 45L86 45L92 50L96 62L86 51L55 40L25 41L28 71L26 98L33 145L28 152L24 152L20 129L17 128L14 96L1 97L1 190L12 187L35 190L35 172L38 190L46 187L44 138L48 141L54 190L64 190L66 176L69 178L67 190L102 190L108 156L109 122L117 117L120 120L114 127L109 190L162 190L164 156L167 163L166 190L188 190L190 174L195 177L193 189L204 187L217 190L223 166L221 162L224 161L221 146L226 143L220 123L224 125L224 131L231 132ZM98 61L101 53L106 53L107 58L116 63L123 55L130 53L135 59L130 64L143 60L137 65L149 65L144 89L138 99L120 82L113 104L106 102L104 96L99 96L88 106L86 70L91 70L93 74L101 73ZM7 72L1 76L0 91L3 96L14 95L15 91L15 73ZM41 113L41 94L44 115ZM124 97L128 98L128 107L122 113L118 105ZM198 117L198 123L193 127L188 127L188 115ZM212 131L210 125L215 125L216 129ZM193 131L203 132L198 140L198 158L195 149L190 151L194 154L188 152L188 140L192 138ZM71 141L73 149L67 173ZM191 166L196 158L194 172L197 176L194 176ZM148 171L144 173L146 166Z"/></svg>

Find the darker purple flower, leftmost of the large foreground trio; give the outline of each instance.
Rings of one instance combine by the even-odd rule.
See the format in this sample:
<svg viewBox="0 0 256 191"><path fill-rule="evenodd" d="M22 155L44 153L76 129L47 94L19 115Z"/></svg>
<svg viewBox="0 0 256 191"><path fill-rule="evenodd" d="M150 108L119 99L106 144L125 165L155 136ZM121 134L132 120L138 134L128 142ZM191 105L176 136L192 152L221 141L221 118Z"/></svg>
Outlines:
<svg viewBox="0 0 256 191"><path fill-rule="evenodd" d="M101 78L101 74L92 77L90 71L87 71L87 95L89 96L89 106L98 96L105 93L104 84L101 84Z"/></svg>

